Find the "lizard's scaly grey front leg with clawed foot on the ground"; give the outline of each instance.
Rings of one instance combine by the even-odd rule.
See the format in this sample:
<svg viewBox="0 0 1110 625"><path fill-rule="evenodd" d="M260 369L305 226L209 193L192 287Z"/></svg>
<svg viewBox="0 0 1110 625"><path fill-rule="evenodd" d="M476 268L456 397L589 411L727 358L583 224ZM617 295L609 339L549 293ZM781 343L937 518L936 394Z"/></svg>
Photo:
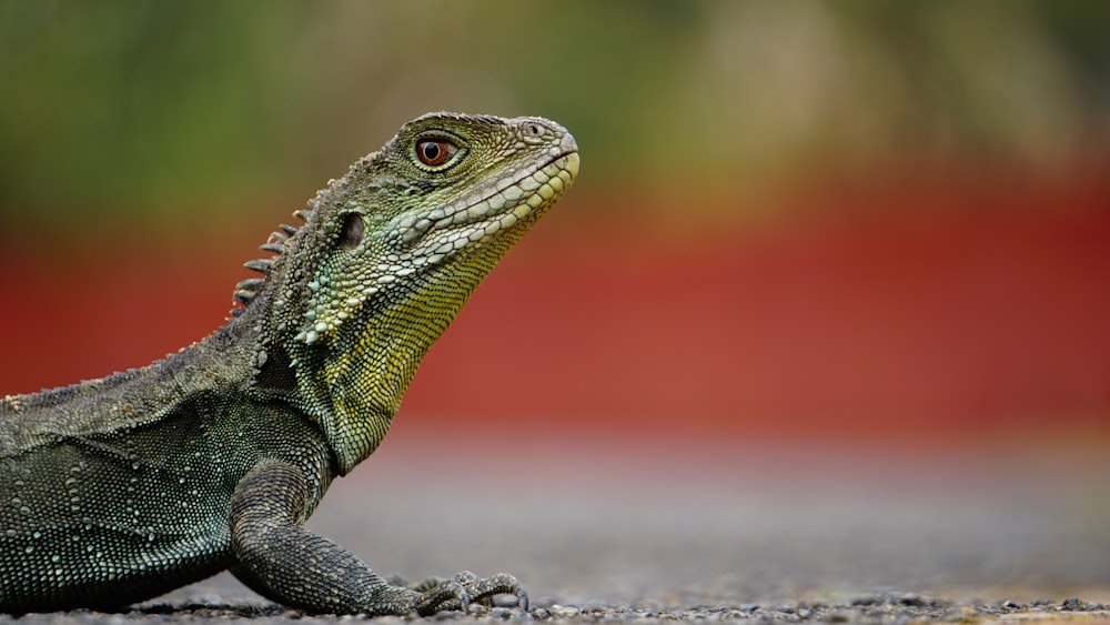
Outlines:
<svg viewBox="0 0 1110 625"><path fill-rule="evenodd" d="M296 466L266 461L236 485L231 545L236 577L281 604L313 613L405 615L463 609L472 598L527 595L512 576L460 574L418 589L392 585L354 554L303 527L309 483Z"/></svg>

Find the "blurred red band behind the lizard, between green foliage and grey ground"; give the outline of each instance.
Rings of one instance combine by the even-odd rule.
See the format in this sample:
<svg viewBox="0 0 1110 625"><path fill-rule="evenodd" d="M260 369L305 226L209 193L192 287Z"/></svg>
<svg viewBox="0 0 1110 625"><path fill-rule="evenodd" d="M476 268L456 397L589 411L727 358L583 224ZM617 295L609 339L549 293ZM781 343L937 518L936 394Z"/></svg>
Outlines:
<svg viewBox="0 0 1110 625"><path fill-rule="evenodd" d="M433 347L398 419L448 435L1104 436L1104 171L826 181L779 200L789 219L672 231L637 225L646 200L572 191ZM200 254L102 232L64 260L42 233L4 233L0 392L140 366L214 330L269 228L248 225L225 240L198 225Z"/></svg>

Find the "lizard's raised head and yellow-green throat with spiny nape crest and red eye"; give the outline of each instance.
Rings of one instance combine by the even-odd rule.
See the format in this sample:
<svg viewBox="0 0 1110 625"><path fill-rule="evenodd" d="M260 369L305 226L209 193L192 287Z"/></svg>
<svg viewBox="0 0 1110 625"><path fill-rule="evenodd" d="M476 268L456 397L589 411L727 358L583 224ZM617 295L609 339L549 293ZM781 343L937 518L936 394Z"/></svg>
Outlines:
<svg viewBox="0 0 1110 625"><path fill-rule="evenodd" d="M389 427L432 343L578 171L541 118L427 114L330 182L248 266L260 329L253 386L316 420L341 473ZM260 321L258 321L260 320Z"/></svg>

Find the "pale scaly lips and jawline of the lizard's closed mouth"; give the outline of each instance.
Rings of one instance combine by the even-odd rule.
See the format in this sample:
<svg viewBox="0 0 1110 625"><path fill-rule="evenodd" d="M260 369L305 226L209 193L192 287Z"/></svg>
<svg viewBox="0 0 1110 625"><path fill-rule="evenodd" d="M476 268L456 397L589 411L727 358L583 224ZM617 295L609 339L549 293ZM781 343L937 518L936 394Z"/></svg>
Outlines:
<svg viewBox="0 0 1110 625"><path fill-rule="evenodd" d="M434 264L448 254L482 244L537 215L558 200L578 173L578 151L564 151L521 175L505 178L460 200L411 215L401 223L402 244L414 264ZM492 187L492 189L491 189ZM421 262L421 259L424 262Z"/></svg>

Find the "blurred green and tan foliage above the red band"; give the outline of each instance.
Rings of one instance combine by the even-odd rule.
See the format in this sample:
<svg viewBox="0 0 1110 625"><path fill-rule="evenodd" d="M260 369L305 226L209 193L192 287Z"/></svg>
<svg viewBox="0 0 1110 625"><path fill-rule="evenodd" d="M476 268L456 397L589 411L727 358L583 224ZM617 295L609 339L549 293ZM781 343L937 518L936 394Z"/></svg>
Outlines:
<svg viewBox="0 0 1110 625"><path fill-rule="evenodd" d="M585 184L684 198L1067 167L1110 139L1110 4L0 0L0 84L2 214L272 210L441 109L551 117Z"/></svg>

